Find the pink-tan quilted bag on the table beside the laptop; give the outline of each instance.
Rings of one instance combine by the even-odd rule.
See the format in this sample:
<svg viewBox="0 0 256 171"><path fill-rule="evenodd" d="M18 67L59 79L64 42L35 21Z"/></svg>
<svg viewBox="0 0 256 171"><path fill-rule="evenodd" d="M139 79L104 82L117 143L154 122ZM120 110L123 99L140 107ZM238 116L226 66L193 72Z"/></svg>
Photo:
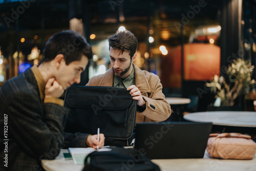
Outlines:
<svg viewBox="0 0 256 171"><path fill-rule="evenodd" d="M250 138L239 133L210 134L206 149L212 158L252 159L256 143Z"/></svg>

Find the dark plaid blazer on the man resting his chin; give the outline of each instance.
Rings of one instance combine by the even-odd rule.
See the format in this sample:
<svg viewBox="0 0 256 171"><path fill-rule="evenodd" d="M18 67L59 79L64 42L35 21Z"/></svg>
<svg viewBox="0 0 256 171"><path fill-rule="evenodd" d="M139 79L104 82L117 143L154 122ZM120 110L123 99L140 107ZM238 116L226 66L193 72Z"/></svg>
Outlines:
<svg viewBox="0 0 256 171"><path fill-rule="evenodd" d="M44 170L41 159L59 154L67 114L58 104L42 105L31 69L7 80L0 88L0 170Z"/></svg>

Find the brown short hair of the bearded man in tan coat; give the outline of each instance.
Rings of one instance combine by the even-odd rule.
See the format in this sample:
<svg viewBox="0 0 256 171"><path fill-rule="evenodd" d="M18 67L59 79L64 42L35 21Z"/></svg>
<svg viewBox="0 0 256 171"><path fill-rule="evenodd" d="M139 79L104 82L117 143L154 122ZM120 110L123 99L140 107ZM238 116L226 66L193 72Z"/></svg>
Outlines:
<svg viewBox="0 0 256 171"><path fill-rule="evenodd" d="M112 47L113 49L119 49L122 51L122 53L123 51L129 52L131 59L136 53L138 41L132 32L128 30L117 31L108 39L110 47Z"/></svg>

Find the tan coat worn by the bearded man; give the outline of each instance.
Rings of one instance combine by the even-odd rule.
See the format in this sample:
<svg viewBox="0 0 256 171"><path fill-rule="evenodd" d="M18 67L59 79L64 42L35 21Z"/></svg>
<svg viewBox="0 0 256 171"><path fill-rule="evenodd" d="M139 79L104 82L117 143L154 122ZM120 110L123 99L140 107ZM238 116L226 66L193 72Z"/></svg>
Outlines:
<svg viewBox="0 0 256 171"><path fill-rule="evenodd" d="M160 122L167 119L170 114L170 105L162 93L162 84L157 75L140 70L134 63L135 86L140 90L146 101L146 109L136 114L136 122ZM109 69L104 74L92 77L86 86L113 87L114 73Z"/></svg>

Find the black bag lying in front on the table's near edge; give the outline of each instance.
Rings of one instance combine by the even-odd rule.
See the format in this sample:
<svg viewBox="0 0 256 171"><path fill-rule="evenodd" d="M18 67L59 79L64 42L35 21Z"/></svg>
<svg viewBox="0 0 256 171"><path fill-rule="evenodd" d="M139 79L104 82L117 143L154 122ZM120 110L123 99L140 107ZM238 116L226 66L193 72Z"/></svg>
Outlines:
<svg viewBox="0 0 256 171"><path fill-rule="evenodd" d="M135 148L112 147L112 151L95 151L84 160L83 171L119 170L160 171L160 168Z"/></svg>

